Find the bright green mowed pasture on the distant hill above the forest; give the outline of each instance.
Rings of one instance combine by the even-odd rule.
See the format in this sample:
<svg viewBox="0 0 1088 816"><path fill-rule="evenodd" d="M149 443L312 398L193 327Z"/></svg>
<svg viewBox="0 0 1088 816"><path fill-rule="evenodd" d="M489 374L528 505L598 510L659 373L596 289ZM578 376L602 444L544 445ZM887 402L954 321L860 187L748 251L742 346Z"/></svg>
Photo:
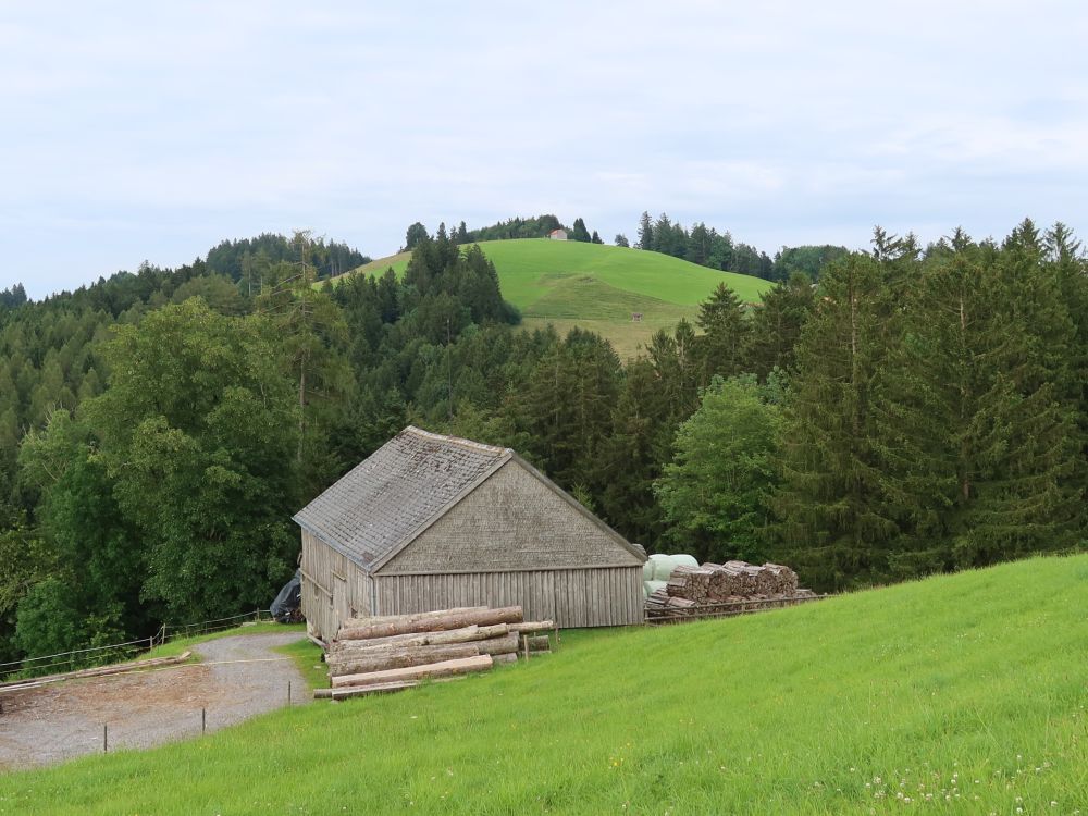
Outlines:
<svg viewBox="0 0 1088 816"><path fill-rule="evenodd" d="M636 354L658 329L681 318L694 321L698 304L725 282L745 302L758 302L771 284L751 275L718 272L659 252L580 242L520 238L480 245L495 264L503 297L518 307L527 329L552 323L560 334L573 326L611 341L621 358ZM410 252L355 272L403 274ZM632 313L641 313L635 322Z"/></svg>

